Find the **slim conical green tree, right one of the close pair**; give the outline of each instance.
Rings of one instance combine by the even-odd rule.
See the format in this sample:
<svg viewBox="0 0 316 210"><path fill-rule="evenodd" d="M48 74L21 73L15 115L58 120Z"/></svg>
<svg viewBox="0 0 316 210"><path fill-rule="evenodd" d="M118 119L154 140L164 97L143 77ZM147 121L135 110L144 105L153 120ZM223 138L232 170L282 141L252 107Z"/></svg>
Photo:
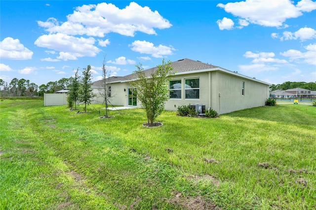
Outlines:
<svg viewBox="0 0 316 210"><path fill-rule="evenodd" d="M86 112L87 105L91 103L94 97L93 90L91 88L91 66L88 65L86 69L83 69L82 79L79 88L79 101L84 103L84 112Z"/></svg>

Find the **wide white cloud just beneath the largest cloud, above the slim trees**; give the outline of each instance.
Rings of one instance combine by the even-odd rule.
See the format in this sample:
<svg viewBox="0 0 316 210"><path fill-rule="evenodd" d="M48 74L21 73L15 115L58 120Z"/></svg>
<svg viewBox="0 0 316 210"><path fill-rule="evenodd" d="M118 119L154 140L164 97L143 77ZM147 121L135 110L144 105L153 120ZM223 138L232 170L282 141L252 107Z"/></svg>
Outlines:
<svg viewBox="0 0 316 210"><path fill-rule="evenodd" d="M100 49L94 46L93 37L75 37L65 34L41 35L34 43L39 47L46 47L60 51L57 59L64 61L77 60L78 57L94 57Z"/></svg>

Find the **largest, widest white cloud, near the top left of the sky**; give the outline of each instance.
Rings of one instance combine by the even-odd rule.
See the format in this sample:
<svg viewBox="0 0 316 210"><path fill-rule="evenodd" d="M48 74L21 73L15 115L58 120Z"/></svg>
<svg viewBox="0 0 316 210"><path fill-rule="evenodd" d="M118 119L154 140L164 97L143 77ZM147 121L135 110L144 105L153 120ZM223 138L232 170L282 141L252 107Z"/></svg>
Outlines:
<svg viewBox="0 0 316 210"><path fill-rule="evenodd" d="M46 22L38 21L40 27L49 33L67 35L88 35L104 37L108 33L134 36L137 31L156 35L154 28L166 29L172 25L158 11L135 2L119 9L112 3L89 4L76 7L73 14L67 15L67 22L59 23L55 18Z"/></svg>

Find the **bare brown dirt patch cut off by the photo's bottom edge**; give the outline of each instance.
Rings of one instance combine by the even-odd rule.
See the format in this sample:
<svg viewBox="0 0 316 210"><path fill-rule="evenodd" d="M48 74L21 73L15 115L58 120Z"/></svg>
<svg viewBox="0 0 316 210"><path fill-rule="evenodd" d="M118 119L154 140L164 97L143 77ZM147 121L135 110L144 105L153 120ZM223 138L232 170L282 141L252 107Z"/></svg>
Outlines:
<svg viewBox="0 0 316 210"><path fill-rule="evenodd" d="M197 197L186 197L180 192L175 192L174 198L167 199L166 201L170 204L181 206L183 209L187 210L221 210L221 208L205 201L199 195Z"/></svg>

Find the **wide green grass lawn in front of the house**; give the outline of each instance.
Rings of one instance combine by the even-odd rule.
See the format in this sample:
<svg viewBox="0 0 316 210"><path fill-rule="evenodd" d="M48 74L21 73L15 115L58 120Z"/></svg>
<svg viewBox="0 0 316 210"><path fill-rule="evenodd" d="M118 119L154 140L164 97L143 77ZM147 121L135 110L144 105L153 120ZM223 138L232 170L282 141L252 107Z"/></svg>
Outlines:
<svg viewBox="0 0 316 210"><path fill-rule="evenodd" d="M100 107L0 102L1 210L316 209L316 107L164 111L157 128Z"/></svg>

